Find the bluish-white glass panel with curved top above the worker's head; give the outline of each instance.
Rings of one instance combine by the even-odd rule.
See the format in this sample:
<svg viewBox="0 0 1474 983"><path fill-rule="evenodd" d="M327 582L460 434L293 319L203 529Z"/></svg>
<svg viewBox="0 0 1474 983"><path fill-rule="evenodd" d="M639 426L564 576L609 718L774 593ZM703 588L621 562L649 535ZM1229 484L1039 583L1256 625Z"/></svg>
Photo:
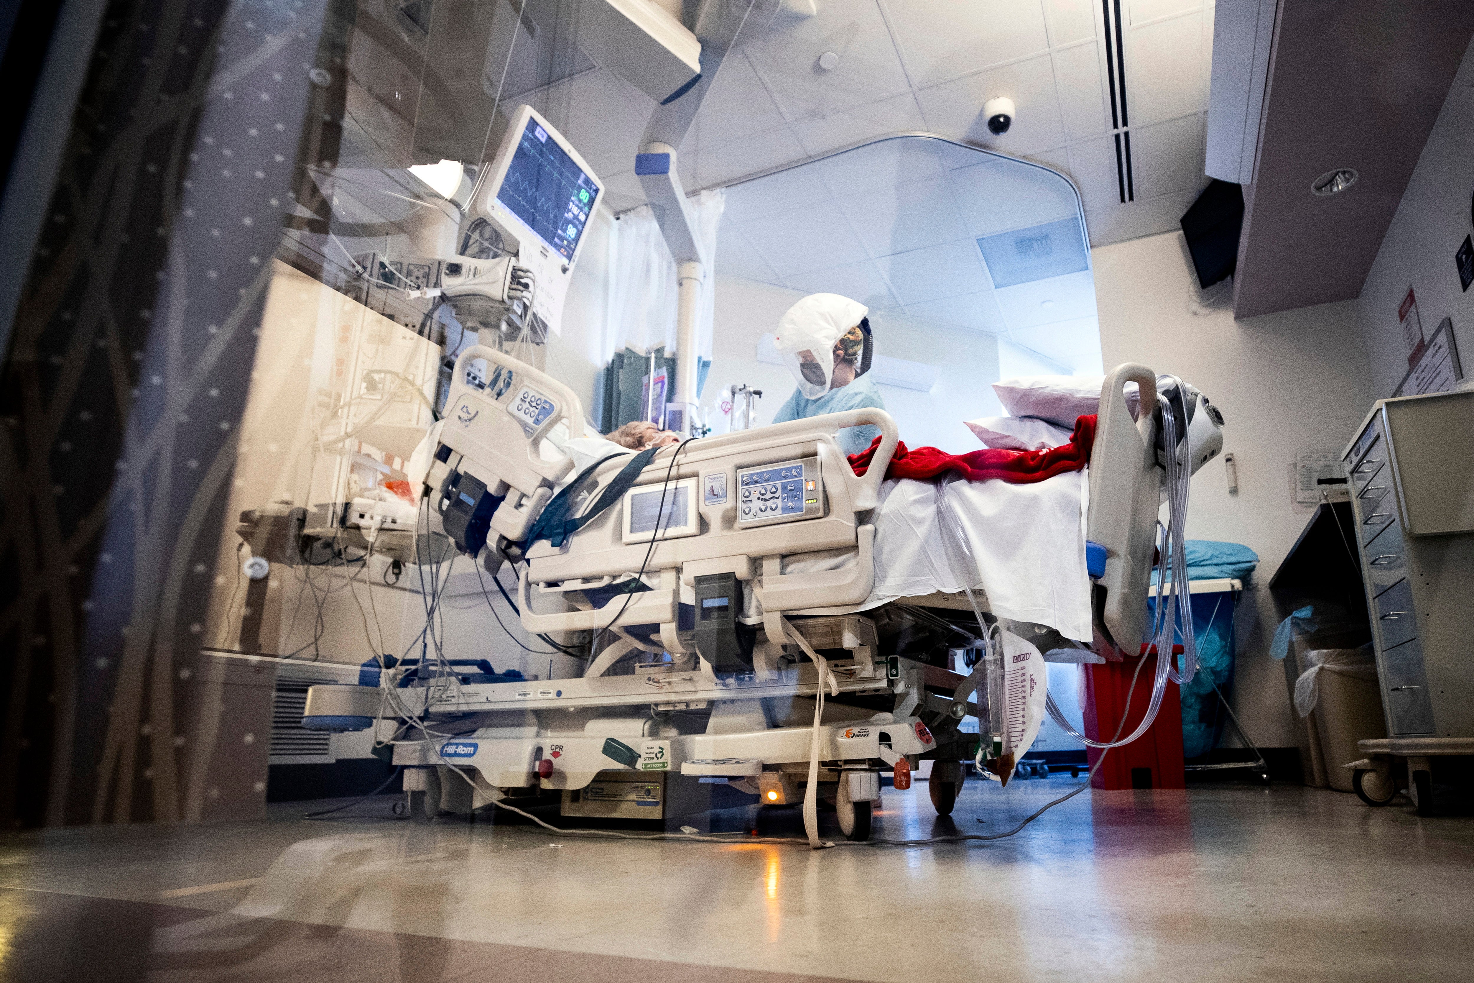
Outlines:
<svg viewBox="0 0 1474 983"><path fill-rule="evenodd" d="M727 189L718 268L1101 371L1080 196L1032 161L905 134L780 168Z"/></svg>

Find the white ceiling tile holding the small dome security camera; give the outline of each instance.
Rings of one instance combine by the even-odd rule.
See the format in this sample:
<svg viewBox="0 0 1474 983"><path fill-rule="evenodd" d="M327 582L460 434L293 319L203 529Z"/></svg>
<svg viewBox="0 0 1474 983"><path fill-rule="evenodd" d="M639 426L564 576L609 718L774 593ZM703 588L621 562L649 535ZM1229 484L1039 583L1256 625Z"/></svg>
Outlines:
<svg viewBox="0 0 1474 983"><path fill-rule="evenodd" d="M1008 133L996 137L988 131L983 118L983 103L993 96L1013 99L1019 113ZM1017 155L1064 144L1064 122L1048 55L924 88L917 99L929 128L951 137Z"/></svg>

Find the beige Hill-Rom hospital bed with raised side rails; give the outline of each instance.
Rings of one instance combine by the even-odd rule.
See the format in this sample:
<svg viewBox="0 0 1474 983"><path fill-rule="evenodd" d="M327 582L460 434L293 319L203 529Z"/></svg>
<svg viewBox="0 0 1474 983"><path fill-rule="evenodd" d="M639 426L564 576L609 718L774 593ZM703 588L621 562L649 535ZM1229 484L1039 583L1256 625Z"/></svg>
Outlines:
<svg viewBox="0 0 1474 983"><path fill-rule="evenodd" d="M643 467L618 454L575 473L550 436L559 424L582 436L566 386L481 346L453 379L427 480L445 534L485 572L516 569L523 628L590 632L593 644L581 678L498 681L445 657L385 665L377 685L314 687L307 727L392 731L416 818L544 796L560 797L563 815L668 818L756 796L803 802L817 843L818 802L831 797L843 833L865 839L883 771L902 786L933 760L929 787L946 814L961 762L976 756L1007 777L1010 755L1027 749L1002 740L1014 707L1001 628L1010 651L1136 654L1148 634L1163 469L1151 413L1134 419L1123 393L1134 382L1139 405L1156 405L1142 365L1107 376L1088 473L1038 486L1067 486L1082 511L1055 541L1077 554L1066 567L1080 578L1069 587L1088 606L1085 638L1077 625L992 612L989 576L967 570L921 576L914 594L877 591L877 557L892 551L877 519L920 485L886 482L898 432L881 410L687 441ZM861 424L881 438L876 466L856 476L834 435ZM965 498L948 501L958 526L979 525ZM538 538L545 513L575 522ZM896 529L907 535L907 523ZM963 538L952 560L971 553L995 584L1039 560L992 557ZM977 734L960 730L967 718Z"/></svg>

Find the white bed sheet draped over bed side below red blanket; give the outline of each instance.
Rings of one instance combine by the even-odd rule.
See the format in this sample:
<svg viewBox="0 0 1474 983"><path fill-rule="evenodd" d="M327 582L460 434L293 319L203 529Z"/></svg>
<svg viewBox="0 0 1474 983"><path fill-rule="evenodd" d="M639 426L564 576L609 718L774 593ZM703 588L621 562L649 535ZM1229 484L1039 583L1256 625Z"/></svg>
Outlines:
<svg viewBox="0 0 1474 983"><path fill-rule="evenodd" d="M936 508L936 485L887 480L873 514L876 584L862 612L887 601L967 587L988 595L999 618L1055 628L1066 638L1091 640L1091 581L1085 569L1086 472L1057 475L1033 485L1002 480L952 482L948 503L967 535L977 570L954 569ZM784 573L845 566L852 551L787 557ZM797 613L839 613L840 609Z"/></svg>

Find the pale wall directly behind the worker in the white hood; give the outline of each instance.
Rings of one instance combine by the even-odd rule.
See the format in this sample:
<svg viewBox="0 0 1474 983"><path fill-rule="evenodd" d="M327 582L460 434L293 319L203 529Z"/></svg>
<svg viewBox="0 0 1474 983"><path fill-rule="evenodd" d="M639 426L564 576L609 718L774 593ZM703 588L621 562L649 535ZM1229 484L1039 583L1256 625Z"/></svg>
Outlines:
<svg viewBox="0 0 1474 983"><path fill-rule="evenodd" d="M758 339L772 332L778 318L805 293L738 277L716 279L716 321L712 368L702 391L703 405L728 385L762 389L758 420L771 423L789 395L793 376L783 365L756 358ZM963 420L998 416L1002 408L989 383L998 376L998 340L983 332L945 327L915 318L871 317L876 351L940 370L932 392L880 386L886 411L896 419L908 447L939 447L961 454L982 448Z"/></svg>

